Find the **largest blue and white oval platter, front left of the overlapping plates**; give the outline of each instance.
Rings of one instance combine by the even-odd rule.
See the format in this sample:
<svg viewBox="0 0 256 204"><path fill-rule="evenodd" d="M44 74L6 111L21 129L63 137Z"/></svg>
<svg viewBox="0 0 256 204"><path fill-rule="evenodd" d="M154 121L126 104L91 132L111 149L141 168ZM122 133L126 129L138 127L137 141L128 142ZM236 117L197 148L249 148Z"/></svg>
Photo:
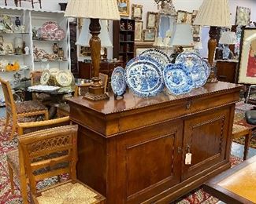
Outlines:
<svg viewBox="0 0 256 204"><path fill-rule="evenodd" d="M125 81L138 97L153 97L165 87L161 64L148 56L137 56L125 68Z"/></svg>

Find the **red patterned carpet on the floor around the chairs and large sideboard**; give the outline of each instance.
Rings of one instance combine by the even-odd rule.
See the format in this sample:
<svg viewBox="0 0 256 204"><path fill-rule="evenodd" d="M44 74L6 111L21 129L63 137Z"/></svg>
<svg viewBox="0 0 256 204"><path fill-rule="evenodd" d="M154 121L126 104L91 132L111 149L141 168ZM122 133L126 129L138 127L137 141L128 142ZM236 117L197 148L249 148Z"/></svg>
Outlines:
<svg viewBox="0 0 256 204"><path fill-rule="evenodd" d="M4 119L0 119L0 204L16 204L22 203L19 184L17 178L15 178L15 195L12 195L10 191L9 185L9 173L6 164L6 152L12 150L13 148L17 147L17 137L14 137L12 141L8 141L7 138L10 133L10 127L7 129L6 133L3 133L3 125ZM231 157L232 166L235 166L239 162L242 162L240 158ZM41 187L46 186L48 184L52 184L57 180L56 178L52 178L51 180L43 181L40 185ZM206 192L202 191L202 188L198 188L195 191L192 191L190 194L185 195L182 199L174 203L178 204L197 204L197 203L204 203L204 204L215 204L218 200L213 196L207 194Z"/></svg>

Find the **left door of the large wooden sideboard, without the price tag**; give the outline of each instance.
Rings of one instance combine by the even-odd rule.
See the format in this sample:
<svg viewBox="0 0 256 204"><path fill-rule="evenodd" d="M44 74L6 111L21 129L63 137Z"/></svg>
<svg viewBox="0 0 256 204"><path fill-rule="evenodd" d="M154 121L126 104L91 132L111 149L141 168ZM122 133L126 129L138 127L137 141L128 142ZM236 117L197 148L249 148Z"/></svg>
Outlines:
<svg viewBox="0 0 256 204"><path fill-rule="evenodd" d="M183 122L165 122L157 126L126 133L117 146L117 179L125 177L118 187L137 203L180 182ZM157 130L157 131L156 131Z"/></svg>

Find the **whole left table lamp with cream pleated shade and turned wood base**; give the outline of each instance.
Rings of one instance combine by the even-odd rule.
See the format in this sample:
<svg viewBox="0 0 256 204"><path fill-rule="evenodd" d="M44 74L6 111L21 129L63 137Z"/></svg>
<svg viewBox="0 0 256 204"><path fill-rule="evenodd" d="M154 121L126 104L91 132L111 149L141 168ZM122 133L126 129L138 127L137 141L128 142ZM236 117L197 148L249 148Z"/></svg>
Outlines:
<svg viewBox="0 0 256 204"><path fill-rule="evenodd" d="M120 15L116 0L69 0L65 10L65 16L90 19L89 30L91 33L90 48L91 48L91 63L94 69L92 84L89 87L89 92L84 98L88 100L105 100L109 96L104 93L104 87L98 77L100 57L101 57L101 39L99 34L101 26L99 20L120 20ZM86 38L86 37L85 37Z"/></svg>

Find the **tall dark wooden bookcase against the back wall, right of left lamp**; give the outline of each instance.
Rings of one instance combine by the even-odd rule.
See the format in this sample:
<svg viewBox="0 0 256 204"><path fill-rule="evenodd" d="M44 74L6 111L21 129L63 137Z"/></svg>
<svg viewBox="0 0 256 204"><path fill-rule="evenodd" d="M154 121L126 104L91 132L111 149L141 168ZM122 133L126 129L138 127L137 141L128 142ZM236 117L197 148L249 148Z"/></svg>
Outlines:
<svg viewBox="0 0 256 204"><path fill-rule="evenodd" d="M135 20L113 21L113 58L126 64L134 57Z"/></svg>

